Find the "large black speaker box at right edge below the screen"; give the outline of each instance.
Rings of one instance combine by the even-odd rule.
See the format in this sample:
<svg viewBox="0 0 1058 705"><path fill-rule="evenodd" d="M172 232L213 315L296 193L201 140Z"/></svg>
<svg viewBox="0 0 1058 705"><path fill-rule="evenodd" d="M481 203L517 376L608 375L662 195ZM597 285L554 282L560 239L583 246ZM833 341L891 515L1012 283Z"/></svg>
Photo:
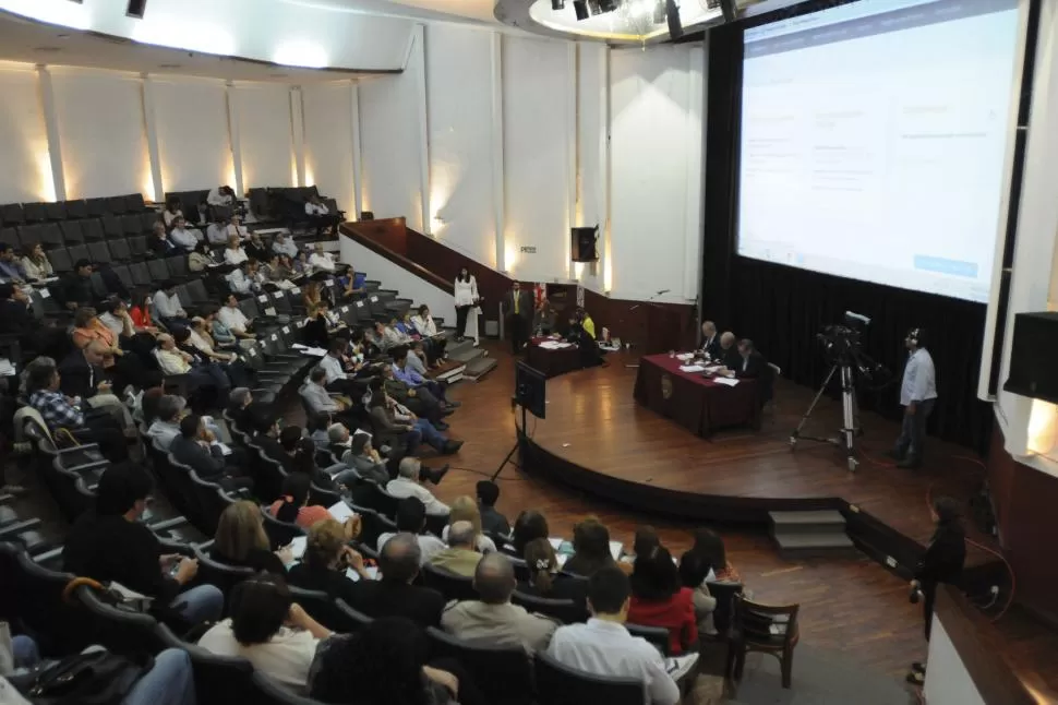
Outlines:
<svg viewBox="0 0 1058 705"><path fill-rule="evenodd" d="M994 355L999 355L996 350ZM1010 345L1010 372L1002 389L1058 404L1058 313L1018 313Z"/></svg>

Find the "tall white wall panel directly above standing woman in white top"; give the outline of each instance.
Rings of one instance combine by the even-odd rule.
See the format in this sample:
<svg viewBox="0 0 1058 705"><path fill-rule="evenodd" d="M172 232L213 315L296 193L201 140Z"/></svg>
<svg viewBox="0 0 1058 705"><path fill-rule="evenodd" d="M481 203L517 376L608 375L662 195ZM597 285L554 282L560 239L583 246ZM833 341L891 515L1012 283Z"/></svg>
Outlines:
<svg viewBox="0 0 1058 705"><path fill-rule="evenodd" d="M431 231L496 266L492 159L492 34L455 24L425 32Z"/></svg>

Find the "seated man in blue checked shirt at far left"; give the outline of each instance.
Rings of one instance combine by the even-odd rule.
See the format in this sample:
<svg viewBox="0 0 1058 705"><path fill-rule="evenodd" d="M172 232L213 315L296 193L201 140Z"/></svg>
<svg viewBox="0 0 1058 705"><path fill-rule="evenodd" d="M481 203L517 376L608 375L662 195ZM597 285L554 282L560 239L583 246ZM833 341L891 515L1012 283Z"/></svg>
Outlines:
<svg viewBox="0 0 1058 705"><path fill-rule="evenodd" d="M125 437L108 413L88 409L82 399L59 392L61 379L55 365L36 365L28 371L29 406L40 414L48 430L55 433L60 428L71 432L87 429L91 440L99 444L99 451L111 463L129 457Z"/></svg>

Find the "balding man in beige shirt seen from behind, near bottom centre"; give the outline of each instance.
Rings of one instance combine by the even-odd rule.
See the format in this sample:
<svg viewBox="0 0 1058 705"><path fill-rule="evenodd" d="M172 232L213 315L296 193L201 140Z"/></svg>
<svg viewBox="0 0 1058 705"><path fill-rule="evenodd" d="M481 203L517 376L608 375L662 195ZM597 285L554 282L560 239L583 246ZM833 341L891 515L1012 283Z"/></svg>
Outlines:
<svg viewBox="0 0 1058 705"><path fill-rule="evenodd" d="M441 618L441 626L479 646L521 646L530 655L548 648L558 625L545 617L530 614L524 607L512 605L510 595L517 584L510 559L503 553L489 553L478 562L473 576L481 599L449 606Z"/></svg>

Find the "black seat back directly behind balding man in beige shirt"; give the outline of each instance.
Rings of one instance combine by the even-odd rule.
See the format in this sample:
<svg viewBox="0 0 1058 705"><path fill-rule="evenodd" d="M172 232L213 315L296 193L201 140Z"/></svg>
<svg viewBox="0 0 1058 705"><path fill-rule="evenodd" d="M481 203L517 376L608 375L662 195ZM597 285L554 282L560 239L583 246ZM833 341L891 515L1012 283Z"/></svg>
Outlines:
<svg viewBox="0 0 1058 705"><path fill-rule="evenodd" d="M433 626L426 628L426 637L430 640L431 656L455 658L462 664L473 676L485 702L502 705L529 705L533 702L532 669L526 650L520 646L478 646Z"/></svg>

